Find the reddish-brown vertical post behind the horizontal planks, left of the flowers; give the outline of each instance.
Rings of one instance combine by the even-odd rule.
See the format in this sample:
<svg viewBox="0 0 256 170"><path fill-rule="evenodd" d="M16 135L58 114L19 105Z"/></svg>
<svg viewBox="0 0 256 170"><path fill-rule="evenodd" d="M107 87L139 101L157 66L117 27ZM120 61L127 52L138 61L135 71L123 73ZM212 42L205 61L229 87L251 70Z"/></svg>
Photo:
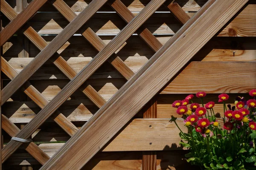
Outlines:
<svg viewBox="0 0 256 170"><path fill-rule="evenodd" d="M157 118L157 99L154 97L143 108L143 118ZM143 170L157 170L157 152L143 151L142 159Z"/></svg>

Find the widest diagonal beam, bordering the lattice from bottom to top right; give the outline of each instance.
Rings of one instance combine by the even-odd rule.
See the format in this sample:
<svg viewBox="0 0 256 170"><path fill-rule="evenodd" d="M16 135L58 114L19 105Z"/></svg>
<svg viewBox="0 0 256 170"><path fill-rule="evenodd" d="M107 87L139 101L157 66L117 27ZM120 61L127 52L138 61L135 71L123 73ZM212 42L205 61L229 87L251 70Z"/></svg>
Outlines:
<svg viewBox="0 0 256 170"><path fill-rule="evenodd" d="M202 48L248 0L215 0L169 48L75 141L41 170L83 167ZM183 27L184 28L184 27ZM193 43L191 43L193 42ZM117 92L119 93L119 92ZM122 106L122 107L121 107ZM100 113L102 109L96 113ZM82 127L84 129L86 125ZM79 133L79 132L78 132ZM76 136L76 135L75 135ZM74 137L75 138L75 137ZM72 141L72 143L71 143ZM66 144L65 144L66 145ZM60 154L62 153L62 154ZM70 160L69 156L73 159ZM67 160L69 160L67 162Z"/></svg>

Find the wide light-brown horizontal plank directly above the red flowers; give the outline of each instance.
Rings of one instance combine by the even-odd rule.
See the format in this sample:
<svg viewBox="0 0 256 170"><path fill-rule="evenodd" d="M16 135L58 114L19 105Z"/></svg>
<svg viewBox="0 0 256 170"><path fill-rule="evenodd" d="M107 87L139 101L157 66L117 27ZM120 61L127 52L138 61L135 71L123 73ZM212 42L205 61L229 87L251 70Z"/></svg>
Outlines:
<svg viewBox="0 0 256 170"><path fill-rule="evenodd" d="M160 94L247 93L256 88L256 62L191 62Z"/></svg>

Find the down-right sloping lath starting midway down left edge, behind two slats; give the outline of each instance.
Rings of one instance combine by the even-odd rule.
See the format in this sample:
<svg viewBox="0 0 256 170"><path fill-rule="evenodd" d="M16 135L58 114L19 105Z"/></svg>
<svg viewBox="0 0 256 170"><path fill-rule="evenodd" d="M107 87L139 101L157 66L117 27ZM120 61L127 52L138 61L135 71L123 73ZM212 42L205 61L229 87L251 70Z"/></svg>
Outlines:
<svg viewBox="0 0 256 170"><path fill-rule="evenodd" d="M18 75L15 68L13 68L3 57L1 57L1 63L1 71L3 71L3 73L6 74L6 76L8 76L10 79L13 79ZM24 91L24 93L29 96L29 98L32 99L41 109L47 105L48 100L29 82L25 82L21 90ZM52 118L70 136L73 136L77 132L78 128L58 110L52 115Z"/></svg>

